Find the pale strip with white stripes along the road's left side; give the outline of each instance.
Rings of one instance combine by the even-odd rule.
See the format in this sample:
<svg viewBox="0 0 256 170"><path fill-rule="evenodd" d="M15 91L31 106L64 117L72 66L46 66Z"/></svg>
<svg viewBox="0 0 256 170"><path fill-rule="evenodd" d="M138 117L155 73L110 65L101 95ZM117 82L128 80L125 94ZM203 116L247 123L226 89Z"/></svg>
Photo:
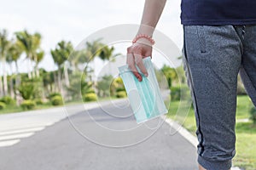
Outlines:
<svg viewBox="0 0 256 170"><path fill-rule="evenodd" d="M115 99L110 103L119 103L123 100ZM67 116L77 114L79 111L101 107L102 105L109 105L109 101L0 115L0 148L17 144L20 139L30 137L34 133L44 130L45 127L51 126L55 122L60 122ZM67 113L67 111L69 112Z"/></svg>

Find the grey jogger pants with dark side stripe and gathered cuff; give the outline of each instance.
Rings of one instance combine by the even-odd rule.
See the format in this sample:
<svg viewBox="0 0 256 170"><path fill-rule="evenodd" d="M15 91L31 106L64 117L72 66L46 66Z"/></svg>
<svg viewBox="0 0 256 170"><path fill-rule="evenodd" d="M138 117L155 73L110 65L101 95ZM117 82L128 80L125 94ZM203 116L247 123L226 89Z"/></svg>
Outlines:
<svg viewBox="0 0 256 170"><path fill-rule="evenodd" d="M184 26L183 63L197 125L198 162L228 170L235 156L240 71L256 104L256 26Z"/></svg>

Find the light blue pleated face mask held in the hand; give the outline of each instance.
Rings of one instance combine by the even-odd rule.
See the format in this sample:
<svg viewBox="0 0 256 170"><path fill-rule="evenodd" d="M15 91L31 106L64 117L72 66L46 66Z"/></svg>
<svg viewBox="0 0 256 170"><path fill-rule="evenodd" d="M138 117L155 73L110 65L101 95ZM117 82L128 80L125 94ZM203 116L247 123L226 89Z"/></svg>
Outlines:
<svg viewBox="0 0 256 170"><path fill-rule="evenodd" d="M125 90L137 123L146 122L168 112L160 94L151 58L144 58L143 64L148 71L148 77L143 76L143 73L137 67L137 70L143 76L142 82L137 80L128 65L119 67L119 76L125 84Z"/></svg>

